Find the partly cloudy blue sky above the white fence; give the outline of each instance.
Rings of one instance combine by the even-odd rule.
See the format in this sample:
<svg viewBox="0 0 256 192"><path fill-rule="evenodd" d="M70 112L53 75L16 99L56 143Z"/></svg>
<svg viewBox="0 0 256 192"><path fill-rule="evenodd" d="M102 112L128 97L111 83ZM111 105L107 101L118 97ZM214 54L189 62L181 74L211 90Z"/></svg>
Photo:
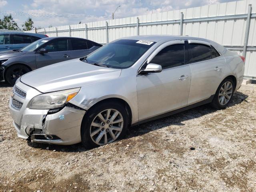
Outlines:
<svg viewBox="0 0 256 192"><path fill-rule="evenodd" d="M12 13L22 28L30 16L34 27L63 26L138 16L156 12L230 2L234 0L0 0L0 18Z"/></svg>

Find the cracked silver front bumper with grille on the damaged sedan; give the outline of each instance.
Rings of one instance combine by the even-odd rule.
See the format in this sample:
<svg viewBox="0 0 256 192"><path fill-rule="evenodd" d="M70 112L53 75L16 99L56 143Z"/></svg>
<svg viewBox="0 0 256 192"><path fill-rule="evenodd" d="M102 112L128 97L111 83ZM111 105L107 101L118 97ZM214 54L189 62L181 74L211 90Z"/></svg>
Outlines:
<svg viewBox="0 0 256 192"><path fill-rule="evenodd" d="M15 85L20 91L13 91L9 108L18 137L32 142L50 144L76 144L81 142L80 128L85 110L68 105L55 113L49 110L27 108L28 102L41 92L22 82ZM24 97L25 95L25 97ZM18 104L17 104L18 103Z"/></svg>

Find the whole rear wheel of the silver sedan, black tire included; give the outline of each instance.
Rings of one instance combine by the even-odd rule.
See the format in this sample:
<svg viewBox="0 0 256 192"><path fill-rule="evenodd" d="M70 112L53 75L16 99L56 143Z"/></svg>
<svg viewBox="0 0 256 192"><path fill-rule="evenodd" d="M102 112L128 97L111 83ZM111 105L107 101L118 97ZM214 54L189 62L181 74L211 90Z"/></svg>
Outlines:
<svg viewBox="0 0 256 192"><path fill-rule="evenodd" d="M231 87L231 86L232 86L232 90L231 90L231 88L229 89L229 87ZM225 91L223 91L223 90L225 90ZM226 106L230 103L230 101L233 98L234 90L235 90L235 86L234 86L234 81L232 80L232 78L228 77L228 78L224 79L220 83L220 85L215 93L215 96L211 103L212 106L216 109L226 108Z"/></svg>

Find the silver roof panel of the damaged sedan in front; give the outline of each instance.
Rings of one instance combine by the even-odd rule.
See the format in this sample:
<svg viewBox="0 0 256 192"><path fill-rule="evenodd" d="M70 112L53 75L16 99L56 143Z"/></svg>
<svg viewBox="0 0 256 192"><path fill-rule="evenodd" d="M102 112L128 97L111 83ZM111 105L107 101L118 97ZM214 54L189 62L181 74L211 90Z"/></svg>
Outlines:
<svg viewBox="0 0 256 192"><path fill-rule="evenodd" d="M131 39L131 40L146 40L146 41L153 41L153 42L167 42L172 40L182 40L182 39L194 39L194 40L202 40L209 42L209 40L204 38L197 38L191 36L177 36L177 35L139 35L139 36L130 36L124 37L121 39Z"/></svg>

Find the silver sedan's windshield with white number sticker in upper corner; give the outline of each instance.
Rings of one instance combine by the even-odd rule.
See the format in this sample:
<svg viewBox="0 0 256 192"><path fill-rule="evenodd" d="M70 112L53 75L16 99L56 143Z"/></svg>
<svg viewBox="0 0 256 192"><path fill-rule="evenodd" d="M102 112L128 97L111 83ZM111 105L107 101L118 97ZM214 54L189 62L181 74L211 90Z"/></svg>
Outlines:
<svg viewBox="0 0 256 192"><path fill-rule="evenodd" d="M155 42L121 39L106 44L84 58L84 62L109 68L132 66Z"/></svg>

